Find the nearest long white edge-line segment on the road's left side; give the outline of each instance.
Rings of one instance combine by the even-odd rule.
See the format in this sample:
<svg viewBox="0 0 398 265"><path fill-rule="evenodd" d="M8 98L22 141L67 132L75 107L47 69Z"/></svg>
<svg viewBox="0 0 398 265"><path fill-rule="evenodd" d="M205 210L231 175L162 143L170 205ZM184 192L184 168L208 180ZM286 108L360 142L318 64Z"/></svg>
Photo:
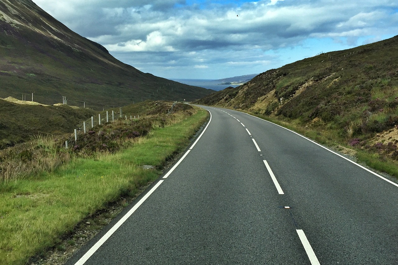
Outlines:
<svg viewBox="0 0 398 265"><path fill-rule="evenodd" d="M94 246L92 246L87 252L86 254L84 254L76 263L75 265L83 265L101 246L102 244L105 243L105 241L131 216L131 214L133 214L133 212L135 212L135 210L138 209L138 207L140 207L140 205L146 200L148 199L148 197L160 186L160 184L162 184L164 180L160 180L158 183L156 183L156 185L150 189L150 191L148 193L146 193L144 195L144 197L142 197L140 199L140 201L133 206L133 208L131 208L129 210L129 212L127 212L127 214L125 214L125 216L123 216L114 226L112 226L111 229L109 229L109 231L102 236L102 238L100 238L100 240L98 240L98 242L96 244L94 244Z"/></svg>

